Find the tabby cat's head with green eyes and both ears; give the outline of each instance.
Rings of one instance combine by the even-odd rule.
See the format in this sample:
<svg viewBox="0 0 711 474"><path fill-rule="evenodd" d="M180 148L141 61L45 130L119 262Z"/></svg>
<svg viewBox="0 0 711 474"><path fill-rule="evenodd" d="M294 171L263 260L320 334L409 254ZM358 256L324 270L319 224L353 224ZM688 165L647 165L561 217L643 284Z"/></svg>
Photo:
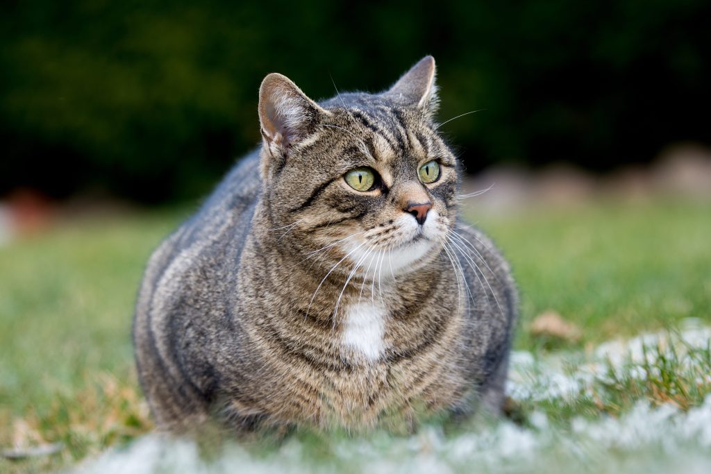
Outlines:
<svg viewBox="0 0 711 474"><path fill-rule="evenodd" d="M328 266L348 259L337 271L362 274L402 274L439 256L458 186L434 122L434 77L427 56L390 90L320 104L283 75L264 78L263 200L291 252Z"/></svg>

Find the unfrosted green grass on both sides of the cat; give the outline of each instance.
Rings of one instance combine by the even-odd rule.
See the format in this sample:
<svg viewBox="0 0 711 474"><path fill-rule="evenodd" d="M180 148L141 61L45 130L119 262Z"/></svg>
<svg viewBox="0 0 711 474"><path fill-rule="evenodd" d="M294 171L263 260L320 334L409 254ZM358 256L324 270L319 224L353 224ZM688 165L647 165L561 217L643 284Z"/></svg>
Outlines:
<svg viewBox="0 0 711 474"><path fill-rule="evenodd" d="M513 265L522 295L516 349L566 358L612 338L678 328L690 317L711 324L710 210L658 199L498 216L472 206L466 218ZM151 429L133 370L132 307L151 250L185 215L68 222L0 247L0 446L63 443L54 456L0 458L1 472L53 470ZM533 336L530 321L548 309L581 328L582 338L550 350ZM691 365L682 364L687 352ZM693 409L711 392L700 377L711 373L711 357L702 348L687 352L682 359L659 350L646 365L610 365L574 397L523 397L521 416L540 412L564 426L577 416L625 416L640 401ZM638 373L646 376L631 376ZM306 446L328 458L316 438Z"/></svg>

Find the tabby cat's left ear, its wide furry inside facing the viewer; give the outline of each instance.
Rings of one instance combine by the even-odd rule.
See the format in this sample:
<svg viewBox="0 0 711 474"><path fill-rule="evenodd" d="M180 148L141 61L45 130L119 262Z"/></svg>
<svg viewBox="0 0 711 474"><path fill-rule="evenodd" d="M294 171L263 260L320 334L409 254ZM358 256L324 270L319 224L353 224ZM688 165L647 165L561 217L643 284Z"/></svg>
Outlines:
<svg viewBox="0 0 711 474"><path fill-rule="evenodd" d="M286 154L314 133L316 126L328 115L288 77L276 72L264 77L260 87L260 125L267 146L277 146Z"/></svg>

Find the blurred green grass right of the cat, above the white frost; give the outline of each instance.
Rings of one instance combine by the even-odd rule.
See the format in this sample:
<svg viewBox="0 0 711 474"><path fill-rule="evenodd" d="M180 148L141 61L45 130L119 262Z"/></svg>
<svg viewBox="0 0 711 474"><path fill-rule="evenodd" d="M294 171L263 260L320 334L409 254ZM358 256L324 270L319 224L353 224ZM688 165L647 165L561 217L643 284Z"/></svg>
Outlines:
<svg viewBox="0 0 711 474"><path fill-rule="evenodd" d="M488 232L518 281L523 328L552 309L582 328L580 342L711 321L711 205L612 201L467 217ZM535 341L519 332L518 347Z"/></svg>

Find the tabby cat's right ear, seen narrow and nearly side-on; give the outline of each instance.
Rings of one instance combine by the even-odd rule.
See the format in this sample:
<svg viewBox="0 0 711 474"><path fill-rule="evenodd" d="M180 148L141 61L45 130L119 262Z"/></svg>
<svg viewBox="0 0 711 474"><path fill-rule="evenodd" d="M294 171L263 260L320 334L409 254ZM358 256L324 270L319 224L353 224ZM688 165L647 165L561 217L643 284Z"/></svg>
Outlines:
<svg viewBox="0 0 711 474"><path fill-rule="evenodd" d="M432 117L439 106L437 84L434 80L436 75L437 68L434 67L434 58L425 56L405 72L400 80L385 92L385 95L422 109L425 114Z"/></svg>

